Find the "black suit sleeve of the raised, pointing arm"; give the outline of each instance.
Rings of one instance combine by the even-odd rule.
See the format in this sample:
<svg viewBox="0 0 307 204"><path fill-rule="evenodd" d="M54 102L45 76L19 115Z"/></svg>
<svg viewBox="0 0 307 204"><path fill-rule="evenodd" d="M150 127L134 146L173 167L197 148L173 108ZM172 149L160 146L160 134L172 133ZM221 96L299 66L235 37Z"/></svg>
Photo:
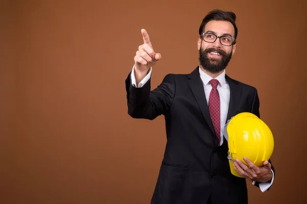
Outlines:
<svg viewBox="0 0 307 204"><path fill-rule="evenodd" d="M131 84L131 72L126 79L128 114L133 118L153 120L165 114L172 103L176 85L173 74L168 74L162 83L150 91L151 78L140 88Z"/></svg>

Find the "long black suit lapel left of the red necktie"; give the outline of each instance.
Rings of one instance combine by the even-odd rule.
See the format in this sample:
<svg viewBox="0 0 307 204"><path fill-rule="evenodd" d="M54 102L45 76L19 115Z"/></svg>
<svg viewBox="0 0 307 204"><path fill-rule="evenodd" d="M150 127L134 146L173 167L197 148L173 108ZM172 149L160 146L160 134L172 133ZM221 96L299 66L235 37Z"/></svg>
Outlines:
<svg viewBox="0 0 307 204"><path fill-rule="evenodd" d="M212 133L215 134L213 123L209 114L209 107L207 105L204 85L199 75L199 67L197 67L192 73L190 73L187 78L188 84L191 87L192 93L201 109L202 114L206 122L208 123Z"/></svg>

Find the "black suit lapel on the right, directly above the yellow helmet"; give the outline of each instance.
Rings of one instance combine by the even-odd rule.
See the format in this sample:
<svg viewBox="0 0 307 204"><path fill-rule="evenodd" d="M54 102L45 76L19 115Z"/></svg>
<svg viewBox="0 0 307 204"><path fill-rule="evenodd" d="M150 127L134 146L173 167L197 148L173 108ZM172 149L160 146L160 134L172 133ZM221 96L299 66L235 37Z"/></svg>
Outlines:
<svg viewBox="0 0 307 204"><path fill-rule="evenodd" d="M227 123L227 121L236 114L236 110L241 96L241 90L237 86L237 83L234 80L232 80L230 77L228 77L227 74L225 75L225 78L230 88L229 107L226 118L226 123Z"/></svg>

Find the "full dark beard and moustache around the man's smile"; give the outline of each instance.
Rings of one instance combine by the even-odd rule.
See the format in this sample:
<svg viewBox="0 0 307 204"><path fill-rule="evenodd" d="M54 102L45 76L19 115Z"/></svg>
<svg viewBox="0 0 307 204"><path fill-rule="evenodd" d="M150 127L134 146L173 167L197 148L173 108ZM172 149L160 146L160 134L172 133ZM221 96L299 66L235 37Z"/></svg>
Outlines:
<svg viewBox="0 0 307 204"><path fill-rule="evenodd" d="M208 53L214 52L214 51L220 53L220 55L222 56L221 60L208 58ZM205 70L211 73L218 73L226 68L226 66L228 65L231 59L231 56L232 56L232 50L231 50L231 53L227 55L226 52L224 52L221 49L215 49L212 47L212 48L207 48L204 51L202 51L202 48L200 48L199 60L200 60L201 66Z"/></svg>

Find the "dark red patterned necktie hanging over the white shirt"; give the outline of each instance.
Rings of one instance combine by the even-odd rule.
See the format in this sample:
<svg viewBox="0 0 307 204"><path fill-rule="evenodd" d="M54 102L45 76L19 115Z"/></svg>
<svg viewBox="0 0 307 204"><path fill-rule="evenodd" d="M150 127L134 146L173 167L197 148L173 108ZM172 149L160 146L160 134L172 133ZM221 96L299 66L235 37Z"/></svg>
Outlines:
<svg viewBox="0 0 307 204"><path fill-rule="evenodd" d="M215 130L215 134L218 141L218 146L220 146L221 141L221 114L220 114L220 95L217 91L218 80L210 80L209 82L212 86L212 90L209 96L209 112L211 116L211 120L213 123L213 127Z"/></svg>

